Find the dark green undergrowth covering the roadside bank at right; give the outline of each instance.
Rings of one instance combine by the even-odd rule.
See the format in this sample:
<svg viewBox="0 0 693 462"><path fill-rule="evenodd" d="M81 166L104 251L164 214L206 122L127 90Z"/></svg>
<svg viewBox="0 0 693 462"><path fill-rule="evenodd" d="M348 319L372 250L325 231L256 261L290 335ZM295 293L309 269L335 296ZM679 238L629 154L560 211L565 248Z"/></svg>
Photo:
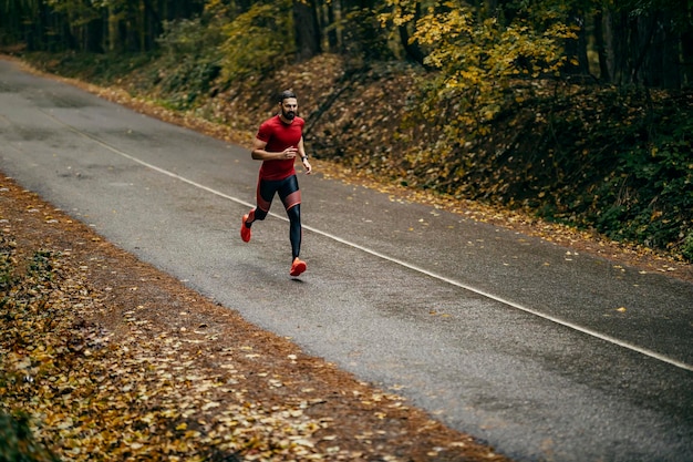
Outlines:
<svg viewBox="0 0 693 462"><path fill-rule="evenodd" d="M468 148L474 162L448 192L691 259L690 97L597 88L537 96Z"/></svg>

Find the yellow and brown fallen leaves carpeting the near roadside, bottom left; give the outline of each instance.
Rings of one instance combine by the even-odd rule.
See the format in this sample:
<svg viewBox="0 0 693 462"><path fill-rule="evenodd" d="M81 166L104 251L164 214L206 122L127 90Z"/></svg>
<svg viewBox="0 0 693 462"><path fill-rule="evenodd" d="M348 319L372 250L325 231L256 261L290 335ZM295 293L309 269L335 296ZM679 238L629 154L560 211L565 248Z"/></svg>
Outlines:
<svg viewBox="0 0 693 462"><path fill-rule="evenodd" d="M217 374L201 374L183 345L210 341L205 332L146 332L152 326L139 318L143 307L124 311L130 336L114 342L87 320L87 311L103 308L103 297L75 279L87 273L85 265L68 278L60 270L64 257L41 250L29 270L15 270L15 246L7 235L0 238L0 407L29 413L34 435L56 455L322 459L313 435L328 423L306 415L309 402L287 398L267 407L249 397L232 356L258 358L251 347L226 351ZM281 377L266 380L267 387L283 387Z"/></svg>

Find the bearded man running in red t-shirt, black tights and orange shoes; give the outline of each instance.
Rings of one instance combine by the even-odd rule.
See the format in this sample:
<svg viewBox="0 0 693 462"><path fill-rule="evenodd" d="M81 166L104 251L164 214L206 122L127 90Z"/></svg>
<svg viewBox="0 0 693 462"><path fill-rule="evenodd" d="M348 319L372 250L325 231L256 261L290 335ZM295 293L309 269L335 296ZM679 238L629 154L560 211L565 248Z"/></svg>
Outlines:
<svg viewBox="0 0 693 462"><path fill-rule="evenodd" d="M252 158L262 161L258 178L257 206L244 215L240 237L250 240L250 226L262 220L269 213L275 194L289 216L289 239L291 240L291 276L299 276L306 270L306 261L299 258L301 251L301 191L293 164L301 158L306 173L312 167L303 147L303 119L297 116L298 100L291 91L279 95L280 113L265 121L252 144Z"/></svg>

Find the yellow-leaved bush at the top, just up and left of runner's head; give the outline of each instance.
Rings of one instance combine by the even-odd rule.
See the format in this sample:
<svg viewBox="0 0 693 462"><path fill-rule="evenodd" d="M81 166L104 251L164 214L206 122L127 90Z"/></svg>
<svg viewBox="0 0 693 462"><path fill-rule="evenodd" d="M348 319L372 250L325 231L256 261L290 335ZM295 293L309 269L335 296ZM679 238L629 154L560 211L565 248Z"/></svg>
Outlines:
<svg viewBox="0 0 693 462"><path fill-rule="evenodd" d="M254 3L223 28L223 75L226 82L268 73L294 53L291 1Z"/></svg>

